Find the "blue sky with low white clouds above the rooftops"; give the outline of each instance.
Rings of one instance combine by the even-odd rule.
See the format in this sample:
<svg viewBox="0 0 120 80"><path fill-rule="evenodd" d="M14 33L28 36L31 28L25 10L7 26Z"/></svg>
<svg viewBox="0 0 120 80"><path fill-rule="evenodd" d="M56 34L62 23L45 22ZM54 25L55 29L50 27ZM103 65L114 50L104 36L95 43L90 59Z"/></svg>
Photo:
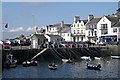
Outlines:
<svg viewBox="0 0 120 80"><path fill-rule="evenodd" d="M89 14L102 17L115 13L117 8L117 2L3 2L2 21L9 24L3 28L3 38L29 35L33 25L41 28L62 20L72 24L76 15L80 19L87 19Z"/></svg>

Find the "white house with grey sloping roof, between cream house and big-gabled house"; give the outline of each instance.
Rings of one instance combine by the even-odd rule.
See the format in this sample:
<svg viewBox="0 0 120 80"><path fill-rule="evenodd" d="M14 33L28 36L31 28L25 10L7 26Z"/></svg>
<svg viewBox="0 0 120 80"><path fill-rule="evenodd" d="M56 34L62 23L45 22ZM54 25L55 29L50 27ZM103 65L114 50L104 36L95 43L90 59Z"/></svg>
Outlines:
<svg viewBox="0 0 120 80"><path fill-rule="evenodd" d="M94 15L88 16L88 22L86 23L86 36L87 40L92 43L97 43L98 36L98 22L101 18L94 18Z"/></svg>

